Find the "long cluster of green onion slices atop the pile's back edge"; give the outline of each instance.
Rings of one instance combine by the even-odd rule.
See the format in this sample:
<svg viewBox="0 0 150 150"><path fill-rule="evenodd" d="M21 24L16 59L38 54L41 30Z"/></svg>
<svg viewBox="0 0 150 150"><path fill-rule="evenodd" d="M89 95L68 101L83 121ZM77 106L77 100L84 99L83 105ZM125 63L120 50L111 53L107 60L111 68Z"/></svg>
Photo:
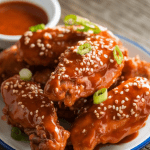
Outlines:
<svg viewBox="0 0 150 150"><path fill-rule="evenodd" d="M92 30L93 33L98 34L99 32L101 32L101 30L99 29L99 27L97 25L95 25L94 23L90 22L89 20L76 16L76 15L67 15L64 18L64 23L66 26L69 25L81 25L84 28L83 29L77 29L77 31L81 31L81 32L87 32L89 30Z"/></svg>

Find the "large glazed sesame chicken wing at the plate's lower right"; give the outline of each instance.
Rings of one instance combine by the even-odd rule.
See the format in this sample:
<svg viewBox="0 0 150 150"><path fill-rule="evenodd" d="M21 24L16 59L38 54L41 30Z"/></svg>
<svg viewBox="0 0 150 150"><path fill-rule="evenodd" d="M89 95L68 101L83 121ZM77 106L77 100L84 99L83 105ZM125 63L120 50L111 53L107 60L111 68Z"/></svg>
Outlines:
<svg viewBox="0 0 150 150"><path fill-rule="evenodd" d="M74 150L93 150L99 144L118 143L143 127L150 113L150 83L131 78L108 93L108 99L93 104L71 129Z"/></svg>

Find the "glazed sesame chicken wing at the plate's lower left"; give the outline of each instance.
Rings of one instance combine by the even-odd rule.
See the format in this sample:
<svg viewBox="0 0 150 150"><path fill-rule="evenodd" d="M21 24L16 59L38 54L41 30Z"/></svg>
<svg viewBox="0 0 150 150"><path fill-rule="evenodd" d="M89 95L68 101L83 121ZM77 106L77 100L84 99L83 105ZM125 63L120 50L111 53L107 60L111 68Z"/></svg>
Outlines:
<svg viewBox="0 0 150 150"><path fill-rule="evenodd" d="M59 125L53 102L39 84L16 75L4 81L1 90L8 123L29 135L32 150L65 149L69 132Z"/></svg>

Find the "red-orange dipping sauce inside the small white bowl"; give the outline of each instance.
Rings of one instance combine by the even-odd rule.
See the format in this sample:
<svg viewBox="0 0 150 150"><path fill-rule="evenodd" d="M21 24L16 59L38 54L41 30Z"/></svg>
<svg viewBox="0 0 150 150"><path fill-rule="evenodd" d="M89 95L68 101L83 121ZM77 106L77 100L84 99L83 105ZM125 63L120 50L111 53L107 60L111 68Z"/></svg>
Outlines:
<svg viewBox="0 0 150 150"><path fill-rule="evenodd" d="M21 35L30 26L47 22L45 11L34 4L18 1L0 4L0 34Z"/></svg>

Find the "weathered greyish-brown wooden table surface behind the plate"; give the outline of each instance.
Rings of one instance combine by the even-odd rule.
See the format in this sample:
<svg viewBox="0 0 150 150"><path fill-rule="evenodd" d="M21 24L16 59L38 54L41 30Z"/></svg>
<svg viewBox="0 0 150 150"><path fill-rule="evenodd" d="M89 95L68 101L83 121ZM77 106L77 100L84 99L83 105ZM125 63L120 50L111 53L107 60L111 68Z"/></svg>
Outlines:
<svg viewBox="0 0 150 150"><path fill-rule="evenodd" d="M59 0L63 18L77 14L150 51L150 0ZM148 144L142 150L150 150Z"/></svg>

